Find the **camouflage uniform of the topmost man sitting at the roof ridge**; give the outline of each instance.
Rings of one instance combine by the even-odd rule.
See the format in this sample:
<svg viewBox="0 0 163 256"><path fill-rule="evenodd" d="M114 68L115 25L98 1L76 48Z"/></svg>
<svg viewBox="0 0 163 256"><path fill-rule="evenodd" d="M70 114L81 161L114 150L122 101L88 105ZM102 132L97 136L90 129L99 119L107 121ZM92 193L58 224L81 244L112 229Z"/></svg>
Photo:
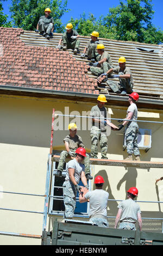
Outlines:
<svg viewBox="0 0 163 256"><path fill-rule="evenodd" d="M53 24L54 24L53 17L41 16L39 19L39 22L38 22L39 31L46 32L47 34L50 34L52 32Z"/></svg>

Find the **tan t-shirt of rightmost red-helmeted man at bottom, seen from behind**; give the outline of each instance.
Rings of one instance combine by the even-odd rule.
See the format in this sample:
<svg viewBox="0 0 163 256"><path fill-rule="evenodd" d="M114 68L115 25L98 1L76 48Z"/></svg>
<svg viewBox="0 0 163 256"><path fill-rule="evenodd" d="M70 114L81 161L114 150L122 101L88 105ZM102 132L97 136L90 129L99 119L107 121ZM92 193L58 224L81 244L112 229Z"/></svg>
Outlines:
<svg viewBox="0 0 163 256"><path fill-rule="evenodd" d="M122 209L120 221L137 222L137 213L141 214L141 210L139 204L134 200L123 200L117 207Z"/></svg>

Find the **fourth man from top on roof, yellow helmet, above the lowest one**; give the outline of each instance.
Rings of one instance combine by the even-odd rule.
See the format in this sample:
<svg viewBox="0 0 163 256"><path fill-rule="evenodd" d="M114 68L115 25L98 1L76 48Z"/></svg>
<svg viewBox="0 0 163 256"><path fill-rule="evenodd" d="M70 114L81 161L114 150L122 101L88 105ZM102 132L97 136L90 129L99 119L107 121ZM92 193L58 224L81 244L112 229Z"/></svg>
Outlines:
<svg viewBox="0 0 163 256"><path fill-rule="evenodd" d="M104 51L104 48L105 47L103 44L97 45L98 55L96 56L96 58L98 61L93 63L90 68L90 71L95 76L100 76L113 68L111 57L108 52Z"/></svg>

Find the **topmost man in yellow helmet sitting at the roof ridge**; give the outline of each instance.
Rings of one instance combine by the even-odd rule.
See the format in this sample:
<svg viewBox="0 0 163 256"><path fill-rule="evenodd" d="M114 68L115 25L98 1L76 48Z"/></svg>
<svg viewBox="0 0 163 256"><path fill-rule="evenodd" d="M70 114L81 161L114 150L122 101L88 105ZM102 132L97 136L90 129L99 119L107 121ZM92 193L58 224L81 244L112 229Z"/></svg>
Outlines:
<svg viewBox="0 0 163 256"><path fill-rule="evenodd" d="M40 17L35 30L37 33L40 31L40 34L45 36L47 39L50 38L50 35L52 35L52 31L54 29L54 20L50 14L51 9L46 8L45 15Z"/></svg>

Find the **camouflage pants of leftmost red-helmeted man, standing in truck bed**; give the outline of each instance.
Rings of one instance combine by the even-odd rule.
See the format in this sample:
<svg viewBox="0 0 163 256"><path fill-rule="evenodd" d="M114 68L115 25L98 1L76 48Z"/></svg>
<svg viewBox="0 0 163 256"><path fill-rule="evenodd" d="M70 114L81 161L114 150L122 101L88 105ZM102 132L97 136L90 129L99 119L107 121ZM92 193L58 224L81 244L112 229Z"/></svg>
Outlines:
<svg viewBox="0 0 163 256"><path fill-rule="evenodd" d="M73 218L74 210L76 208L76 187L70 181L65 181L63 184L63 196L65 205L65 218Z"/></svg>

